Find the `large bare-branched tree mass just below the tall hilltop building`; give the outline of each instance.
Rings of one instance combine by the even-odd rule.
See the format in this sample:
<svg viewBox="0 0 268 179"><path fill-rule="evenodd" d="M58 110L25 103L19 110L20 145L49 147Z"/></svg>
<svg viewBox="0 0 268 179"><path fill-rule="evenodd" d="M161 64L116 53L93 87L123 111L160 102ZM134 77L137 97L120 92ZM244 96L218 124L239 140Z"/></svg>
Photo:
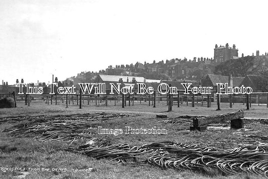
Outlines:
<svg viewBox="0 0 268 179"><path fill-rule="evenodd" d="M255 60L254 56L246 56L238 59L230 59L220 63L215 67L215 74L229 76L246 76L247 74L257 74L261 61Z"/></svg>

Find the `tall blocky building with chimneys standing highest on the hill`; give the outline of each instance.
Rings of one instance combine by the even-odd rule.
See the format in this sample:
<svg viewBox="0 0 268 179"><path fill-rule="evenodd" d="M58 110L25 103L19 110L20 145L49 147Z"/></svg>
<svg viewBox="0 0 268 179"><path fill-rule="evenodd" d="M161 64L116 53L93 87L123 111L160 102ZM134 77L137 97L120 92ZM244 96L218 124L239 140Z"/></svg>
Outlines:
<svg viewBox="0 0 268 179"><path fill-rule="evenodd" d="M214 48L214 61L215 63L221 63L230 59L238 57L238 49L229 47L228 43L225 46L219 46L216 44Z"/></svg>

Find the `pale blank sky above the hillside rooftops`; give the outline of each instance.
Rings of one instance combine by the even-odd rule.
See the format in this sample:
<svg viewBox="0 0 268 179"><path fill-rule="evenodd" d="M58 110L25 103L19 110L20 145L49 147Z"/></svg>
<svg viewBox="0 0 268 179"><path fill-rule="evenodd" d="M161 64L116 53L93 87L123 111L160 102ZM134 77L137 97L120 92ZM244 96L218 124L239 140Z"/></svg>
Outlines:
<svg viewBox="0 0 268 179"><path fill-rule="evenodd" d="M0 80L51 82L109 65L268 52L268 1L1 0Z"/></svg>

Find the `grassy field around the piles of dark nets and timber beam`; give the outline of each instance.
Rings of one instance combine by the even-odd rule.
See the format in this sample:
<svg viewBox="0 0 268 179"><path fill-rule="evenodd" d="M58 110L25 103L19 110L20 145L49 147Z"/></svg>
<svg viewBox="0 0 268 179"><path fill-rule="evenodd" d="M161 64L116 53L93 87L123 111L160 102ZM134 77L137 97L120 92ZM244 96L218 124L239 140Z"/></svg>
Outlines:
<svg viewBox="0 0 268 179"><path fill-rule="evenodd" d="M75 103L74 103L75 104ZM0 109L0 131L20 124L24 121L6 120L4 117L16 116L38 116L38 115L67 115L83 113L124 113L133 114L129 118L118 118L113 120L95 121L92 126L103 128L124 129L126 126L131 128L159 128L166 129L167 134L98 134L97 138L101 144L129 144L143 145L152 142L174 141L183 144L198 144L200 146L210 146L219 149L228 149L246 145L268 145L267 140L259 138L245 137L248 134L266 134L268 125L260 123L245 123L245 129L233 130L230 128L209 128L205 132L189 131L188 125L165 125L159 123L163 120L156 118L156 114L167 114L168 117L177 117L181 115L206 116L235 112L245 110L245 105L235 104L233 108L229 104L221 104L221 111L216 111L217 106L212 103L211 108L207 108L201 103L195 104L195 107L186 106L184 103L180 108L175 105L172 111L167 113L165 102L156 102L156 108L148 106L148 102L135 102L134 106L122 108L120 102L114 106L114 102L109 102L106 107L104 103L95 106L95 103L87 105L85 101L82 109L77 105L65 105L59 103L48 105L44 102L33 101L30 107L25 106L23 102L18 103L16 109ZM245 118L258 119L268 118L268 110L265 105L252 105L249 111L245 111ZM80 143L79 143L80 142ZM87 141L74 142L70 146L82 144ZM2 132L0 135L0 167L25 167L28 171L0 168L0 178L262 178L258 175L227 175L223 176L218 171L201 173L197 171L177 171L173 169L160 169L152 166L130 167L121 163L112 164L108 159L95 159L82 154L76 154L58 148L69 146L70 143L63 141L36 141L32 138L10 137ZM40 170L38 170L40 168ZM50 168L50 171L42 171L42 168ZM53 168L58 168L57 170ZM63 169L62 169L63 168ZM75 171L75 169L87 169L91 171ZM52 171L55 170L55 171ZM67 171L66 171L67 170ZM265 177L263 177L265 178Z"/></svg>

